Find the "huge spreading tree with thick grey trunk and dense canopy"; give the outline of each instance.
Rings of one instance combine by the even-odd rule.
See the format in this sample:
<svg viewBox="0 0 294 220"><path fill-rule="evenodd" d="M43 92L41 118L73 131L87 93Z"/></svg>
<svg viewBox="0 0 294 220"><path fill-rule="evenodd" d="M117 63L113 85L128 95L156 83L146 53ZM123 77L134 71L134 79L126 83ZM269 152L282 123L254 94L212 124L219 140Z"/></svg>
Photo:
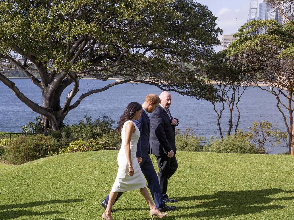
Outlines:
<svg viewBox="0 0 294 220"><path fill-rule="evenodd" d="M40 88L42 106L0 73L0 80L45 128L59 130L64 117L87 96L126 82L143 82L187 94L205 86L187 64L219 44L216 17L192 0L5 0L0 3L1 70L16 68ZM41 79L34 76L38 73ZM79 78L123 78L83 93ZM63 106L61 93L72 85Z"/></svg>

